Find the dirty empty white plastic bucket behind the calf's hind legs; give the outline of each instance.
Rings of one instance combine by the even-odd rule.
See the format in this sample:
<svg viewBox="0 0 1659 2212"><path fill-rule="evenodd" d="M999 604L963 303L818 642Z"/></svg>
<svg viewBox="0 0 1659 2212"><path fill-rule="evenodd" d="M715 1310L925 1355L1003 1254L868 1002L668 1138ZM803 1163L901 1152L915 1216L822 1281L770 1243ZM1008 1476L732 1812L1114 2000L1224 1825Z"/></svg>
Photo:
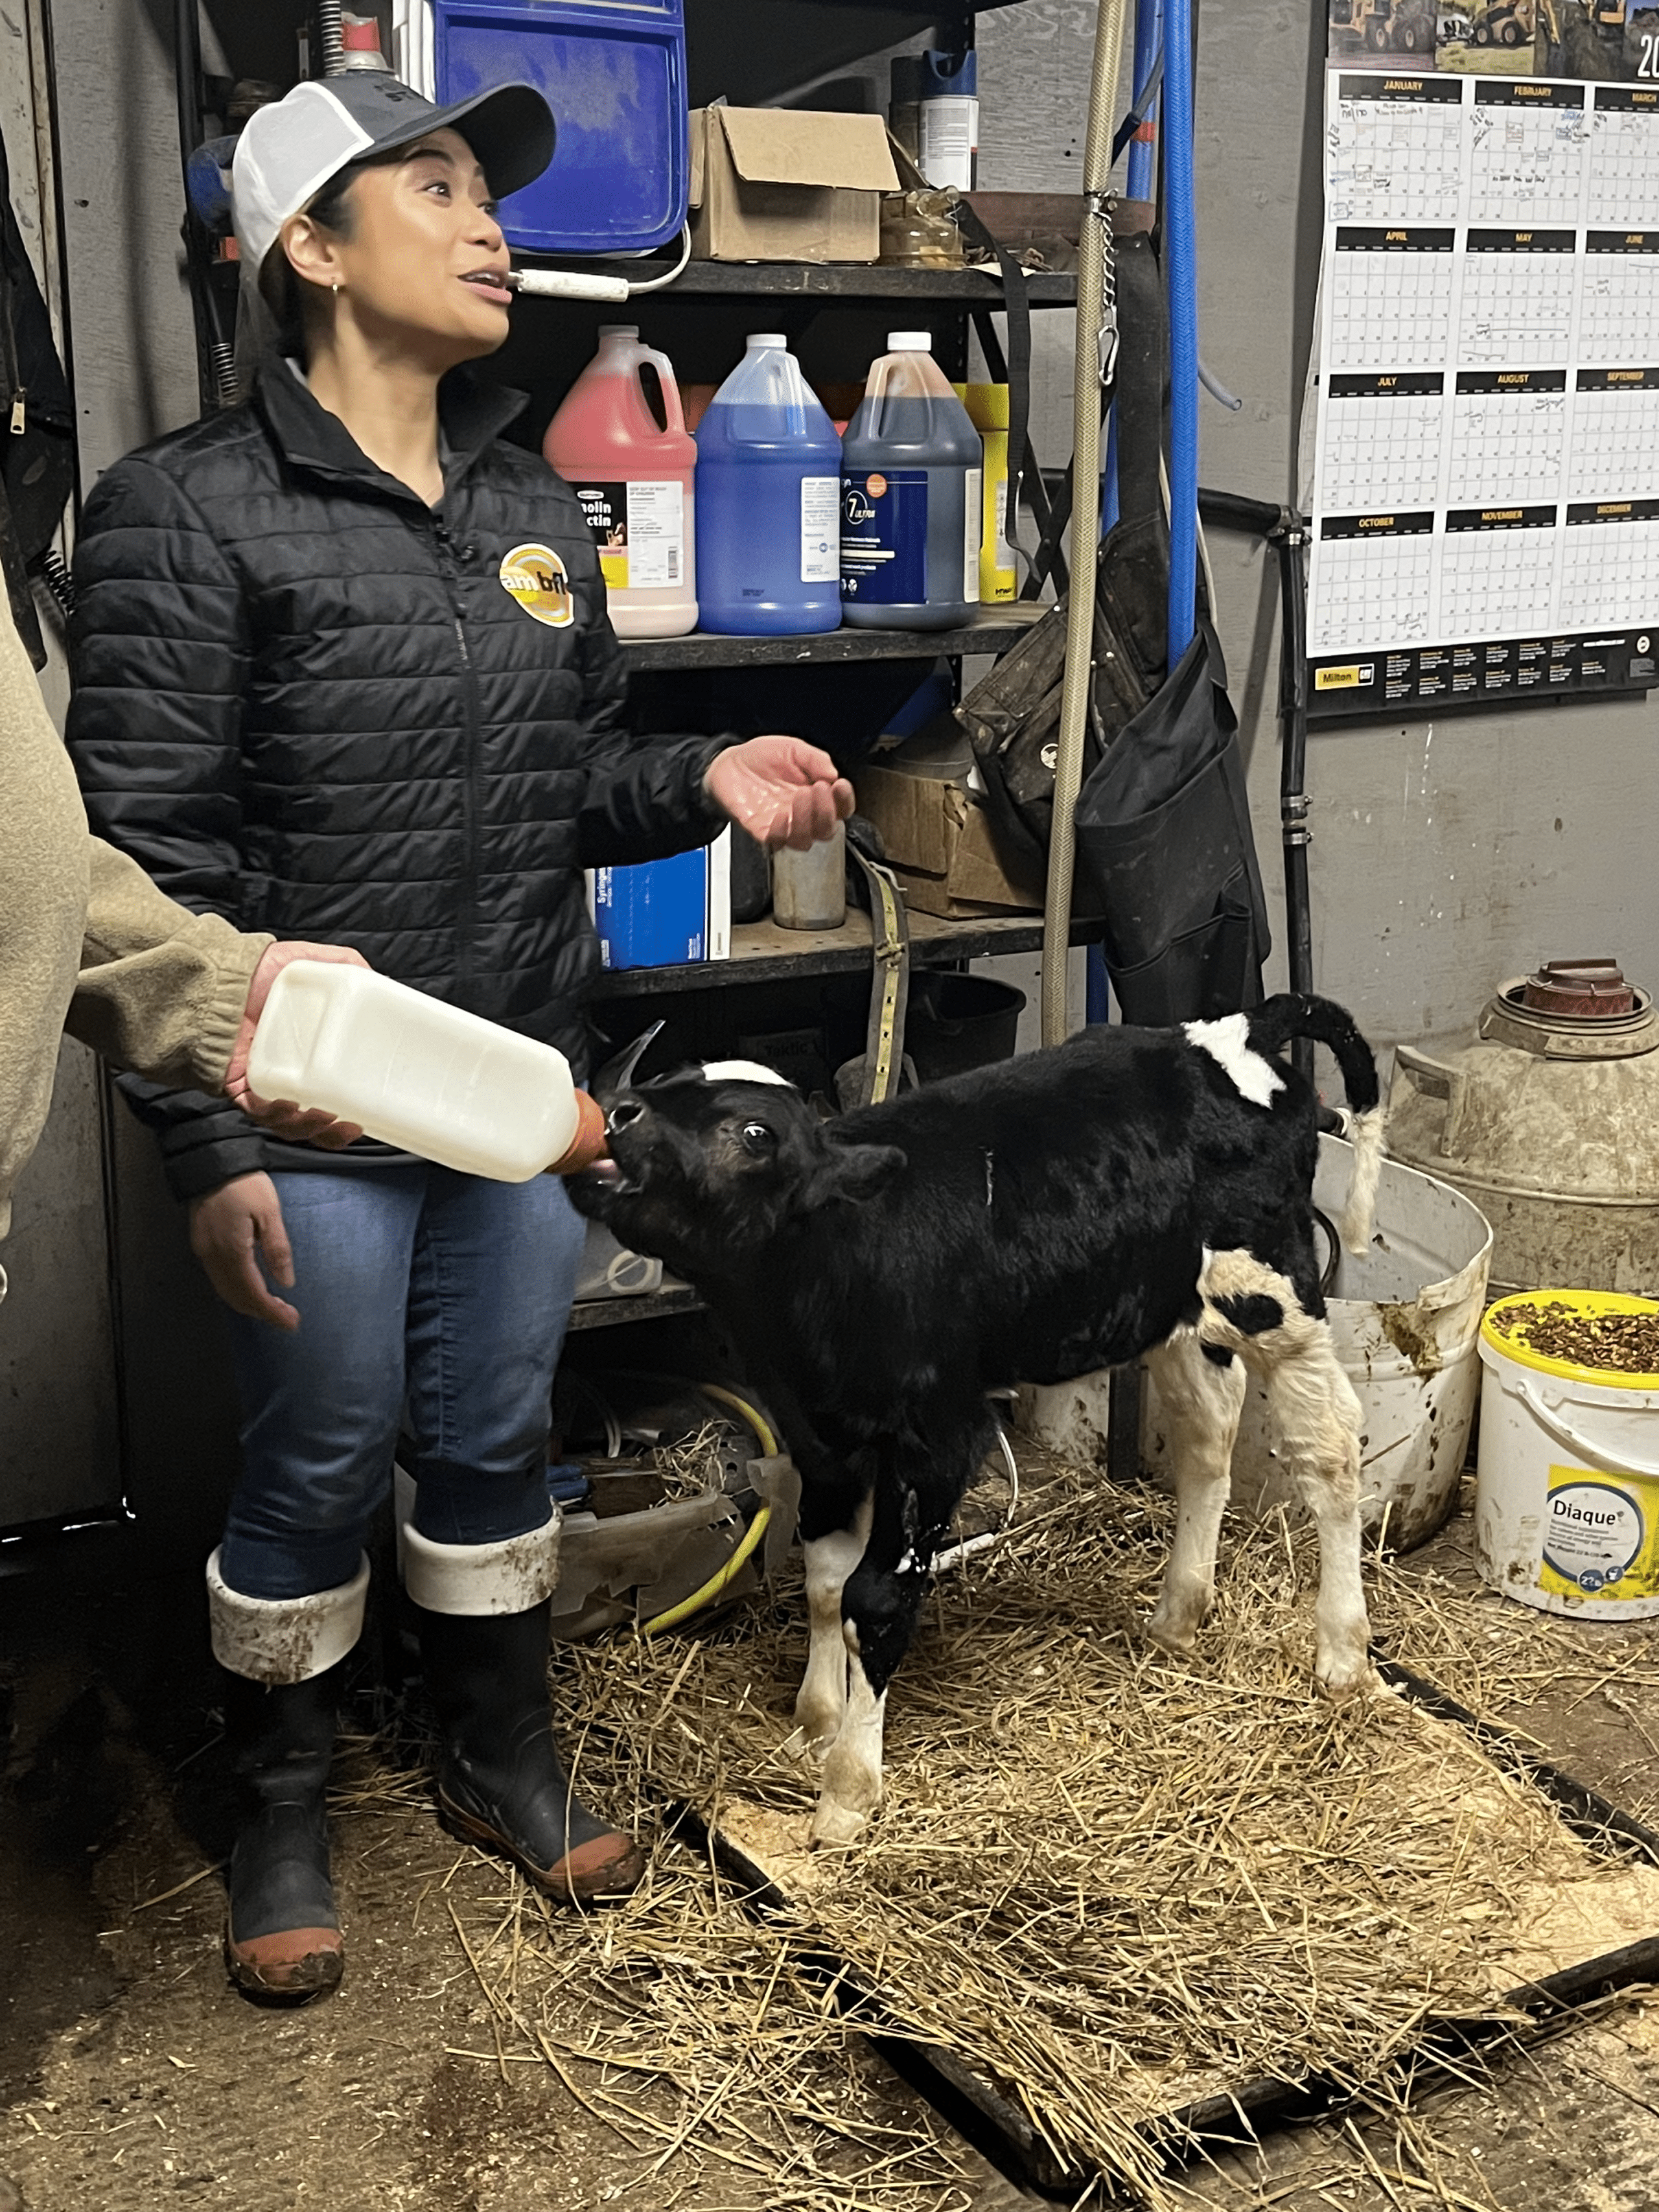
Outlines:
<svg viewBox="0 0 1659 2212"><path fill-rule="evenodd" d="M1343 1212L1354 1146L1318 1139L1314 1203ZM1491 1228L1451 1183L1383 1161L1376 1234L1358 1259L1338 1254L1325 1294L1332 1343L1360 1400L1360 1515L1389 1551L1425 1544L1458 1502L1458 1478L1480 1394L1475 1336L1486 1303ZM1141 1464L1168 1484L1172 1469L1157 1385L1141 1396ZM1261 1517L1279 1506L1305 1517L1279 1460L1267 1398L1252 1378L1232 1447L1232 1506Z"/></svg>

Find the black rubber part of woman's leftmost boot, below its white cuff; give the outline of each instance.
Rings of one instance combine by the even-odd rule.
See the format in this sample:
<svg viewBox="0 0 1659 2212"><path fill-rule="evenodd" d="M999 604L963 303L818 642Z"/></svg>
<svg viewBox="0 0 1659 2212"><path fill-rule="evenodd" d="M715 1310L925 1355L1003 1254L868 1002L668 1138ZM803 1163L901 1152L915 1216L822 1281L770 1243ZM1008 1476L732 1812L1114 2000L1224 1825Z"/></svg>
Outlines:
<svg viewBox="0 0 1659 2212"><path fill-rule="evenodd" d="M241 1798L226 1964L254 1997L321 1997L345 1971L325 1818L343 1674L345 1661L274 1688L226 1674L226 1745Z"/></svg>

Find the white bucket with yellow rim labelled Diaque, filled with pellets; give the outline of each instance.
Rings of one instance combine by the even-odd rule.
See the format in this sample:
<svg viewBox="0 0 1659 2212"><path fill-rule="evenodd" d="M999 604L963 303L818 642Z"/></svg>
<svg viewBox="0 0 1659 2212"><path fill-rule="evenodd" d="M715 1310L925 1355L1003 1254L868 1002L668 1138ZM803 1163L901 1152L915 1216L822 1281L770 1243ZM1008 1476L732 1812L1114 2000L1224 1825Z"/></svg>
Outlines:
<svg viewBox="0 0 1659 2212"><path fill-rule="evenodd" d="M1652 1298L1528 1290L1480 1327L1475 1564L1504 1597L1579 1619L1659 1615L1659 1376L1533 1352L1515 1310L1659 1314ZM1504 1325L1511 1325L1509 1332Z"/></svg>

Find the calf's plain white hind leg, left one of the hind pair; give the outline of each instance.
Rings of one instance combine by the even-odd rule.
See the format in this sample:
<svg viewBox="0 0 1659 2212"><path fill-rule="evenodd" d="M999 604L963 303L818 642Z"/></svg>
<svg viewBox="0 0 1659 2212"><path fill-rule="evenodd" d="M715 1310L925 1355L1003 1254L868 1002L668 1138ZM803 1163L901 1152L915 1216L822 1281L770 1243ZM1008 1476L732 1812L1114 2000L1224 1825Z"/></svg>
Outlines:
<svg viewBox="0 0 1659 2212"><path fill-rule="evenodd" d="M1245 1371L1230 1354L1223 1358L1206 1352L1190 1327L1148 1352L1146 1365L1157 1383L1175 1462L1175 1542L1146 1632L1168 1652L1190 1652L1214 1601L1214 1555L1232 1480Z"/></svg>

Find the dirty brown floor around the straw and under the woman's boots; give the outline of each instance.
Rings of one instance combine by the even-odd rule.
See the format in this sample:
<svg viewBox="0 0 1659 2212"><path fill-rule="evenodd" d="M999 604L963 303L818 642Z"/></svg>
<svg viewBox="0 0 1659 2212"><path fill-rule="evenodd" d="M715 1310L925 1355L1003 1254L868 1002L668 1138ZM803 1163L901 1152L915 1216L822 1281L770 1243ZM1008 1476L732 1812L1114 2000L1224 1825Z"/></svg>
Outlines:
<svg viewBox="0 0 1659 2212"><path fill-rule="evenodd" d="M847 2139L825 2135L814 2172L768 2170L765 2157L710 2163L690 2141L675 2146L684 2101L668 2086L633 2090L628 2148L575 2073L489 2064L491 2015L447 1905L482 1909L500 1876L456 1851L418 1787L338 1823L352 1927L343 1993L303 2013L239 2000L219 1962L212 1869L226 1807L204 1754L212 1677L195 1577L111 1573L86 1542L53 1573L9 1582L0 1606L11 1728L0 2174L29 2212L1035 2203L931 2128L869 2057L856 2055L838 2088L856 2115ZM1467 1522L1416 1564L1464 1582ZM1595 1648L1597 1632L1582 1635ZM1659 1694L1615 1674L1595 1697L1533 1699L1513 1719L1582 1781L1632 1809L1652 1803ZM580 2004L575 2015L568 2042ZM867 2177L883 2159L876 2192ZM1648 2212L1659 2205L1659 2000L1613 2004L1478 2088L1425 2099L1405 2126L1327 2124L1201 2166L1172 2201L1190 2212Z"/></svg>

